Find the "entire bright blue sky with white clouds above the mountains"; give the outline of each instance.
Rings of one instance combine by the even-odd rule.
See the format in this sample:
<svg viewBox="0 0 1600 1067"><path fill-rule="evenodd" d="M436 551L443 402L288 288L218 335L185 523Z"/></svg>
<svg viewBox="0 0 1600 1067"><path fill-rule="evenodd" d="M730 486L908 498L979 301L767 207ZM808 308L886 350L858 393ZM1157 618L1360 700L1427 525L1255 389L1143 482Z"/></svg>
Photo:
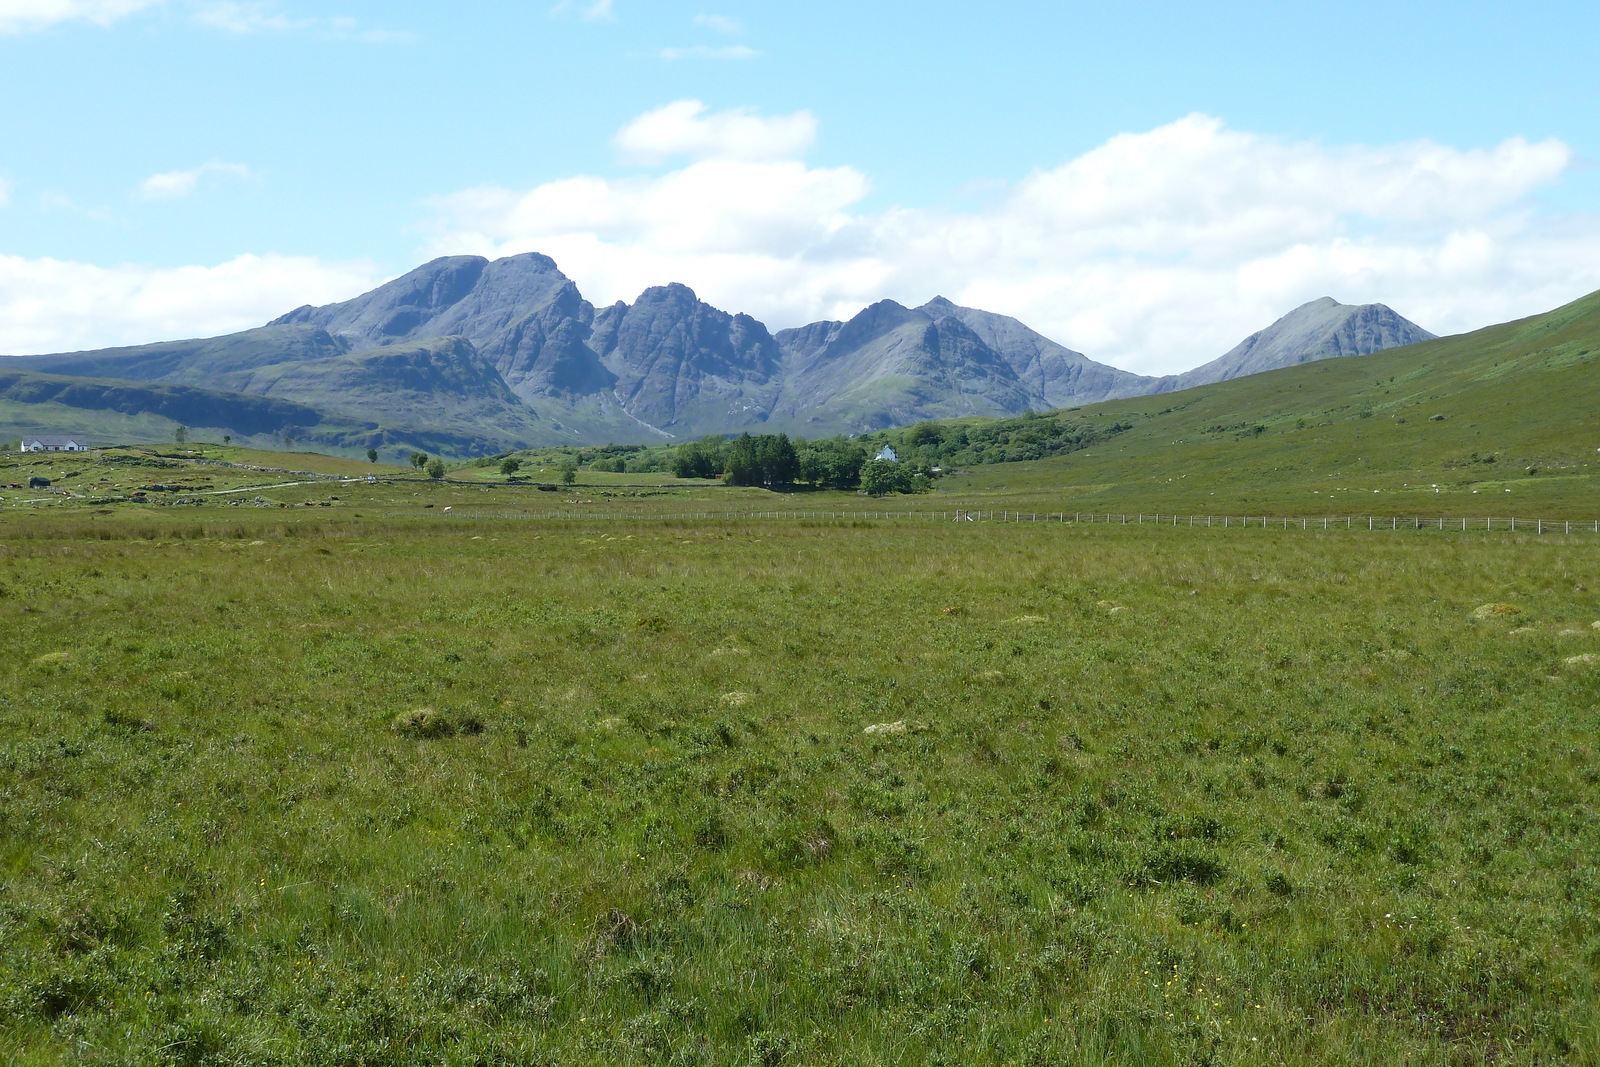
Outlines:
<svg viewBox="0 0 1600 1067"><path fill-rule="evenodd" d="M1141 371L1317 296L1600 288L1595 5L0 0L0 352L242 328L442 253L890 296Z"/></svg>

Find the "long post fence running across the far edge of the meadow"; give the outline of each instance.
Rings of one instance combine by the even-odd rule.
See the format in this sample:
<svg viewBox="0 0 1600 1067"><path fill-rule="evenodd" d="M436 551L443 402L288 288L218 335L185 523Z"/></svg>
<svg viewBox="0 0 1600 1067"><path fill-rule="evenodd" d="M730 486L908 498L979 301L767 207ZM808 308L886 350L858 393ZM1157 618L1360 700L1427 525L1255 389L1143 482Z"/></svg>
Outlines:
<svg viewBox="0 0 1600 1067"><path fill-rule="evenodd" d="M416 512L389 512L389 518L416 518ZM1341 515L1341 517L1274 517L1274 515L1173 515L1173 514L1122 514L1122 512L1013 512L1013 510L781 510L781 512L440 512L438 518L520 518L520 520L618 520L618 522L714 522L714 520L787 520L787 522L971 522L971 523L1099 523L1112 526L1205 526L1216 530L1438 530L1470 533L1474 530L1504 530L1510 533L1594 533L1600 534L1600 518L1424 518L1413 515Z"/></svg>

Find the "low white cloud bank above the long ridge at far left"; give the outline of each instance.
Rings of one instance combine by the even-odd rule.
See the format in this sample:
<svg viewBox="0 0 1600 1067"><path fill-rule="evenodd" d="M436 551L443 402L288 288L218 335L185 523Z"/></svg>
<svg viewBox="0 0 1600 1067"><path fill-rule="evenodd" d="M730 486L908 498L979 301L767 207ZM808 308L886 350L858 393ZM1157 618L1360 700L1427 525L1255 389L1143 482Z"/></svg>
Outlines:
<svg viewBox="0 0 1600 1067"><path fill-rule="evenodd" d="M238 256L213 267L96 267L0 254L0 352L72 352L259 326L301 304L349 299L368 262Z"/></svg>

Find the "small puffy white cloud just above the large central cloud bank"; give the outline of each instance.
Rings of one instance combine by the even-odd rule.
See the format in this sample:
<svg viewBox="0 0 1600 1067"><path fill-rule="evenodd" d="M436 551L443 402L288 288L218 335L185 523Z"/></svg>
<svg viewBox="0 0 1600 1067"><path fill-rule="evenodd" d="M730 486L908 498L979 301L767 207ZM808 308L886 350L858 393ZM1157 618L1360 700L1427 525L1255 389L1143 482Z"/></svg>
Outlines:
<svg viewBox="0 0 1600 1067"><path fill-rule="evenodd" d="M763 118L749 109L707 114L701 101L674 101L622 126L613 144L632 160L659 163L674 157L718 160L786 160L805 155L816 141L808 110Z"/></svg>

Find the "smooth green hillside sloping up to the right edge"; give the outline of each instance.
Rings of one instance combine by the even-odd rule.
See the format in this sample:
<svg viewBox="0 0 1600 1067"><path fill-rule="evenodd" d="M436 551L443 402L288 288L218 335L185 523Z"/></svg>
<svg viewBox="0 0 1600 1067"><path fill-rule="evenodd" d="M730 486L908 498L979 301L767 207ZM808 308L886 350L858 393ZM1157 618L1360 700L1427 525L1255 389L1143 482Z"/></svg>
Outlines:
<svg viewBox="0 0 1600 1067"><path fill-rule="evenodd" d="M1061 456L981 462L966 438L989 419L870 440L962 467L946 490L1069 510L1592 517L1597 397L1600 293L1454 338L1005 421L1011 454L1051 432L1128 427Z"/></svg>

